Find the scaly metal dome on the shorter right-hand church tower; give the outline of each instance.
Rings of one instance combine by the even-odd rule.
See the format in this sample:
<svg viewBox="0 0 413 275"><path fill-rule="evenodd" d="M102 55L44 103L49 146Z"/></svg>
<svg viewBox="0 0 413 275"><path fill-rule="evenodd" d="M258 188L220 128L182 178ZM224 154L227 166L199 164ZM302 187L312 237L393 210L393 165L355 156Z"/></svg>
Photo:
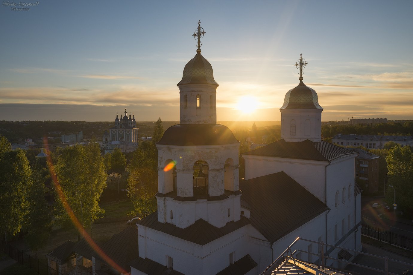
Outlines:
<svg viewBox="0 0 413 275"><path fill-rule="evenodd" d="M302 80L297 87L285 94L284 104L280 109L323 109L318 104L316 91L307 87Z"/></svg>

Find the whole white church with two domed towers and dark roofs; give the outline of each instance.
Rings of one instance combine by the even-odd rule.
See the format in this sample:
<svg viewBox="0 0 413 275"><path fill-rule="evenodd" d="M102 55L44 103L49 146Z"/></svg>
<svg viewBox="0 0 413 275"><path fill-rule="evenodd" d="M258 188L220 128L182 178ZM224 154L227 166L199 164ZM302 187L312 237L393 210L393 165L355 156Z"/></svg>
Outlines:
<svg viewBox="0 0 413 275"><path fill-rule="evenodd" d="M157 211L136 223L131 274L261 274L297 237L360 251L357 153L321 140L323 108L302 81L307 63L301 57L296 64L299 84L280 109L282 139L244 153L240 181L240 142L216 124L218 83L199 48L199 24L197 54L178 83L180 124L156 144ZM296 248L318 251L311 242ZM325 252L334 258L340 251Z"/></svg>

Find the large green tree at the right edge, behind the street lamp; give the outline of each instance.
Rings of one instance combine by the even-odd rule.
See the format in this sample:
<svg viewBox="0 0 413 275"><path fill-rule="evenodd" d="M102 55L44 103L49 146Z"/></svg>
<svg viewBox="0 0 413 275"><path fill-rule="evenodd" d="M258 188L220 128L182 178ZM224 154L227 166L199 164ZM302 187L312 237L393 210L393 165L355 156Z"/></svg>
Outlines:
<svg viewBox="0 0 413 275"><path fill-rule="evenodd" d="M396 190L396 201L401 209L413 214L413 153L410 146L391 148L386 157L389 185ZM387 188L386 200L393 202L394 190Z"/></svg>

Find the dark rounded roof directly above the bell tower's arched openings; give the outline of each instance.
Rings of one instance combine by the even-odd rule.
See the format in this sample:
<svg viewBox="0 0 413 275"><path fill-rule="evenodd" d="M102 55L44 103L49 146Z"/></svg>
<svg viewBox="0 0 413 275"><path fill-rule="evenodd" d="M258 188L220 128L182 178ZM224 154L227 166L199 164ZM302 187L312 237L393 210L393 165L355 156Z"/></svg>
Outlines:
<svg viewBox="0 0 413 275"><path fill-rule="evenodd" d="M222 145L239 143L228 127L220 124L178 124L166 129L157 144Z"/></svg>

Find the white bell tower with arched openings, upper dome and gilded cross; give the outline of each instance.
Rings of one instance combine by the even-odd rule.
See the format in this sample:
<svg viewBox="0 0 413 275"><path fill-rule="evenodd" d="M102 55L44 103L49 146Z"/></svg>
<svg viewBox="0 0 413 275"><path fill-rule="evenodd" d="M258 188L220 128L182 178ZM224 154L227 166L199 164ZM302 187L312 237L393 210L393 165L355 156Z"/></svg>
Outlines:
<svg viewBox="0 0 413 275"><path fill-rule="evenodd" d="M178 83L180 124L169 127L158 149L158 221L186 228L203 219L221 228L240 220L238 149L228 127L216 124L211 64L201 55L205 31L198 21L197 54Z"/></svg>

